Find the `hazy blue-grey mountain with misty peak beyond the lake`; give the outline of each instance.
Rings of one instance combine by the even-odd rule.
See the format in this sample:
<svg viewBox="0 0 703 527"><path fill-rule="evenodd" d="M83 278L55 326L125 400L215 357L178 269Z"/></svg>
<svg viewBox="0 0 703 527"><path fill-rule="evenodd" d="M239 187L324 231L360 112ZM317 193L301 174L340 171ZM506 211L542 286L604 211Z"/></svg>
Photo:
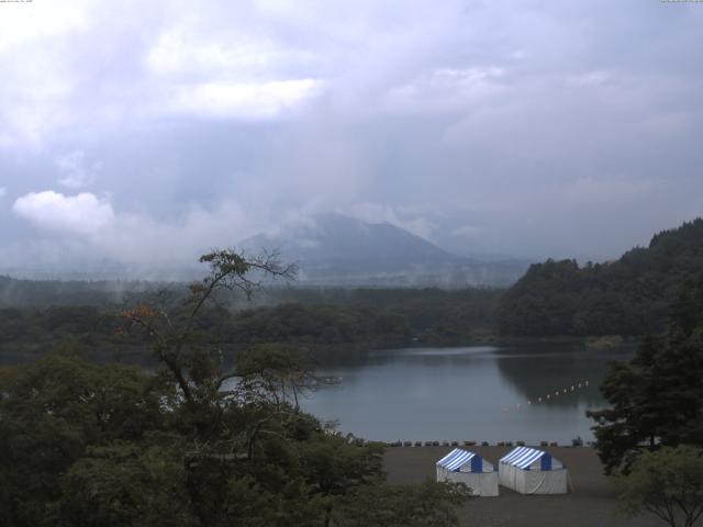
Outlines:
<svg viewBox="0 0 703 527"><path fill-rule="evenodd" d="M249 253L277 249L299 265L299 282L337 285L509 285L522 261L486 262L453 255L389 223L320 214L239 244Z"/></svg>

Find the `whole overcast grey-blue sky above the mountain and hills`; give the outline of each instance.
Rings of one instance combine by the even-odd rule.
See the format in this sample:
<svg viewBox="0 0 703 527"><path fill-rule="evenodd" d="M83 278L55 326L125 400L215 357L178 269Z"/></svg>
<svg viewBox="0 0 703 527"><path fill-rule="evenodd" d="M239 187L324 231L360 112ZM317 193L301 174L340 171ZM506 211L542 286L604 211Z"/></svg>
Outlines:
<svg viewBox="0 0 703 527"><path fill-rule="evenodd" d="M703 3L0 3L0 268L327 211L606 259L703 214Z"/></svg>

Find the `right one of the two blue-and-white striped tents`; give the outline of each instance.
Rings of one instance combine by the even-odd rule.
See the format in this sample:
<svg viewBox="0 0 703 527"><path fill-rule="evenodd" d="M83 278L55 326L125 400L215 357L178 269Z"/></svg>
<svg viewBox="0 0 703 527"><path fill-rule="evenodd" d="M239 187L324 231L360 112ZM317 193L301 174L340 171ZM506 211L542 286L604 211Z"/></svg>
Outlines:
<svg viewBox="0 0 703 527"><path fill-rule="evenodd" d="M501 485L521 494L566 494L567 468L549 452L517 447L499 461Z"/></svg>

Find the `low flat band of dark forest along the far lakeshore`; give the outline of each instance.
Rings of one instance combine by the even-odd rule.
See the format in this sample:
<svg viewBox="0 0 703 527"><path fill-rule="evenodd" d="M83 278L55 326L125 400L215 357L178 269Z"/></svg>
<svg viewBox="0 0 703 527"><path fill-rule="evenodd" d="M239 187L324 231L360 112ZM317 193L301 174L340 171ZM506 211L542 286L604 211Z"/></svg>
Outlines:
<svg viewBox="0 0 703 527"><path fill-rule="evenodd" d="M271 293L272 294L272 293ZM272 306L207 306L197 321L205 338L234 352L259 343L305 348L317 359L354 351L423 345L460 345L490 333L500 292L493 290L289 290ZM163 295L160 295L163 296ZM181 294L167 295L182 312ZM297 300L297 302L292 302ZM156 292L137 301L159 303ZM55 305L0 309L0 361L31 359L66 341L93 359L143 362L145 343L119 333L118 305Z"/></svg>

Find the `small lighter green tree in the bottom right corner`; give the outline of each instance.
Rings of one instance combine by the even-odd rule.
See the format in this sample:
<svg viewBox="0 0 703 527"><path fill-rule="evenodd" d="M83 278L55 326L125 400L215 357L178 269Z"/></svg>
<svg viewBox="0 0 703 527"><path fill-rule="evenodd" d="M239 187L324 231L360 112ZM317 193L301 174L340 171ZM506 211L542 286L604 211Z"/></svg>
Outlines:
<svg viewBox="0 0 703 527"><path fill-rule="evenodd" d="M692 527L703 514L703 450L663 447L643 453L615 478L621 509L654 514L671 527Z"/></svg>

